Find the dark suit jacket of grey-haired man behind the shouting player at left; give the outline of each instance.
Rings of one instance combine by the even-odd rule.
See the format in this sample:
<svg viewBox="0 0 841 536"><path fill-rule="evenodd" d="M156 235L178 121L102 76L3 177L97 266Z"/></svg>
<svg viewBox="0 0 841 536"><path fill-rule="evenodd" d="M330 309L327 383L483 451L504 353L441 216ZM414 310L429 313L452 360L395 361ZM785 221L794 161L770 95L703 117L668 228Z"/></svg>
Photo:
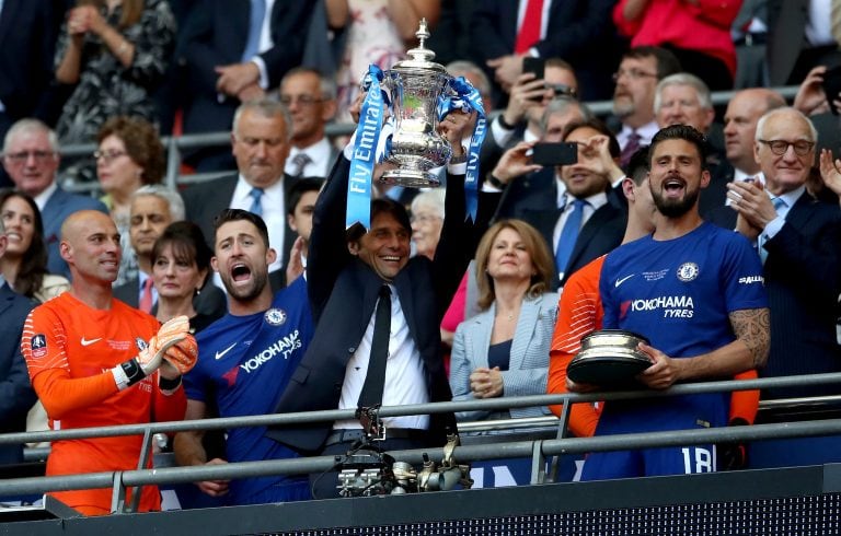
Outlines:
<svg viewBox="0 0 841 536"><path fill-rule="evenodd" d="M201 183L191 186L183 193L184 208L186 209L187 220L194 222L201 228L201 233L205 235L207 244L210 249L214 248L214 240L216 233L214 232L214 219L219 215L219 212L231 206L231 199L233 198L233 190L237 189L237 180L239 180L239 174L230 175L222 178L210 180L209 183ZM284 175L284 202L289 199L289 190L292 185L298 180L295 177ZM286 207L284 207L284 214L286 214ZM286 272L286 265L289 264L289 249L291 249L295 238L298 235L289 228L289 223L284 218L284 250L278 252L283 255L284 266L276 270L280 272L280 277L284 278ZM281 279L285 281L285 279ZM274 288L274 287L273 287Z"/></svg>

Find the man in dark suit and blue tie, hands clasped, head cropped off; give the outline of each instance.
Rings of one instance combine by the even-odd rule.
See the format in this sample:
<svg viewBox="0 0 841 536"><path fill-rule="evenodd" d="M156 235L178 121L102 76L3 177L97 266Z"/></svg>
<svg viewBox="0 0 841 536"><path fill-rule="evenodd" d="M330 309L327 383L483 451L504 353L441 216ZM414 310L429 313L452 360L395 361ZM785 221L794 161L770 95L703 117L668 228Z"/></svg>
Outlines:
<svg viewBox="0 0 841 536"><path fill-rule="evenodd" d="M270 12L258 18L262 30L256 33L252 31L256 28L252 19L260 14L252 13L255 3L204 0L194 8L180 53L191 94L184 132L227 130L241 102L262 97L269 88L277 88L286 71L300 65L309 3L275 0ZM230 155L204 153L205 158L196 155L200 170L232 164Z"/></svg>

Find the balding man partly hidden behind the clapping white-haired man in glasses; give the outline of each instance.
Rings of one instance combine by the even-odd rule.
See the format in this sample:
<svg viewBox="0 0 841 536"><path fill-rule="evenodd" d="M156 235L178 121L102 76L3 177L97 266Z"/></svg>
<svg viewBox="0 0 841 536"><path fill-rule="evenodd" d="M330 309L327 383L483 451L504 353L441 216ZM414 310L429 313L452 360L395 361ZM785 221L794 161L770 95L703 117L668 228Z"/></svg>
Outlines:
<svg viewBox="0 0 841 536"><path fill-rule="evenodd" d="M785 106L777 92L765 88L750 88L737 92L727 104L724 114L724 148L726 162L704 190L701 215L726 229L736 226L736 212L725 206L727 183L730 180L758 180L764 184L759 162L753 155L757 123L767 112ZM727 203L729 205L729 203Z"/></svg>

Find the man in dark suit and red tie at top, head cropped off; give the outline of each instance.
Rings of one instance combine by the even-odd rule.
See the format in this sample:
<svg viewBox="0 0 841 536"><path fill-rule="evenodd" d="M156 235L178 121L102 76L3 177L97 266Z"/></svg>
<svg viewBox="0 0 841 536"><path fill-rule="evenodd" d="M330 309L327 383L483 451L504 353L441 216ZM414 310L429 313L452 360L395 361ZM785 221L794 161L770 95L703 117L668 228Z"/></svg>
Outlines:
<svg viewBox="0 0 841 536"><path fill-rule="evenodd" d="M526 13L527 0L476 2L470 25L473 57L485 62L488 74L506 92L522 72L522 58L564 58L578 77L585 101L609 98L610 73L615 61L610 13L612 0L545 0L548 21ZM520 13L523 16L519 16ZM529 33L528 26L534 28ZM599 61L594 61L599 58Z"/></svg>

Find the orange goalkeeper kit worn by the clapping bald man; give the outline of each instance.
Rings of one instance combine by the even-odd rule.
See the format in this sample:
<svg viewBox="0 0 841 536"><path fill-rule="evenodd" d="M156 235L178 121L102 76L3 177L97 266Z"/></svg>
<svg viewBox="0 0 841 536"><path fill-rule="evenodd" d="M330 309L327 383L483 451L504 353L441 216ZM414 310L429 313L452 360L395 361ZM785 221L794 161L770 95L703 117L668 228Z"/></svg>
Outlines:
<svg viewBox="0 0 841 536"><path fill-rule="evenodd" d="M35 307L26 318L21 350L50 427L67 430L183 419L186 398L181 387L163 394L155 373L119 392L111 372L136 357L158 328L152 316L117 300L112 300L111 310L96 310L65 292ZM136 469L141 440L130 435L56 441L47 475ZM111 511L111 489L50 494L87 514ZM140 511L149 510L160 510L154 487L146 487L140 501Z"/></svg>

